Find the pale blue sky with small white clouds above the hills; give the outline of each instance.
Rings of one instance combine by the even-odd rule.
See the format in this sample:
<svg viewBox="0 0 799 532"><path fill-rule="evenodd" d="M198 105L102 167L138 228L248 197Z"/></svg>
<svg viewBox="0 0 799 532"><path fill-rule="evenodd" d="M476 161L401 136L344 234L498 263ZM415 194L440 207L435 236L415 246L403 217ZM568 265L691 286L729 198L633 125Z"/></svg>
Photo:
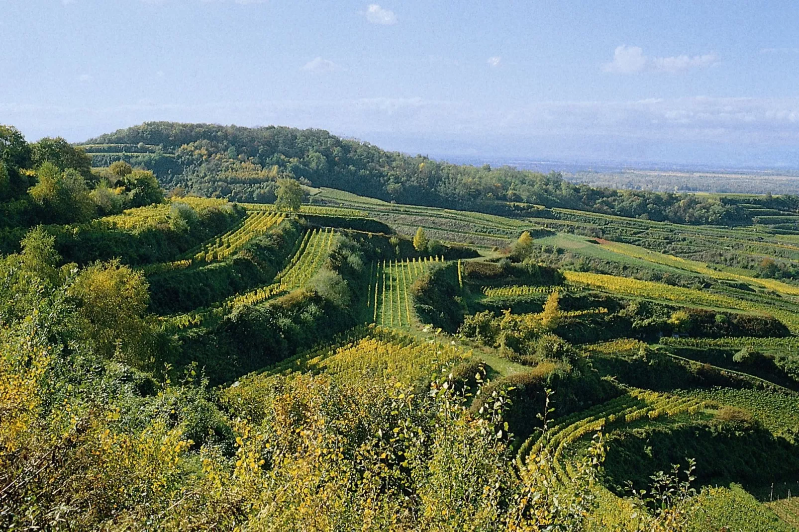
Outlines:
<svg viewBox="0 0 799 532"><path fill-rule="evenodd" d="M0 123L799 167L799 2L0 0Z"/></svg>

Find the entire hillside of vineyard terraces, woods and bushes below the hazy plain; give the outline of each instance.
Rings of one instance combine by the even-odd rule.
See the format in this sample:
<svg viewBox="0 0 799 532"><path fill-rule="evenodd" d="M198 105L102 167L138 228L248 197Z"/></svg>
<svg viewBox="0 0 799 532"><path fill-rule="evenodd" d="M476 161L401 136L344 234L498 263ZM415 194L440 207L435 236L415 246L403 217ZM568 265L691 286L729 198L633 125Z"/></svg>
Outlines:
<svg viewBox="0 0 799 532"><path fill-rule="evenodd" d="M0 126L0 528L796 530L797 208Z"/></svg>

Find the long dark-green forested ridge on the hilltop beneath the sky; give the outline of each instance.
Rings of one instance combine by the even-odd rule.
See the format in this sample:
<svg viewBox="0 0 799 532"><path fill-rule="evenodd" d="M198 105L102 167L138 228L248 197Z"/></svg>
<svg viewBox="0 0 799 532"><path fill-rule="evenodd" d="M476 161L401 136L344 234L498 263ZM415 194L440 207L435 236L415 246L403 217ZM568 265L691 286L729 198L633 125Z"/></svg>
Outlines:
<svg viewBox="0 0 799 532"><path fill-rule="evenodd" d="M147 122L84 143L94 165L124 160L153 170L167 189L236 201L274 200L278 177L398 203L509 214L541 204L678 224L748 224L732 200L594 189L511 167L452 165L388 152L322 129ZM795 210L790 204L760 207ZM763 198L785 203L786 199Z"/></svg>

